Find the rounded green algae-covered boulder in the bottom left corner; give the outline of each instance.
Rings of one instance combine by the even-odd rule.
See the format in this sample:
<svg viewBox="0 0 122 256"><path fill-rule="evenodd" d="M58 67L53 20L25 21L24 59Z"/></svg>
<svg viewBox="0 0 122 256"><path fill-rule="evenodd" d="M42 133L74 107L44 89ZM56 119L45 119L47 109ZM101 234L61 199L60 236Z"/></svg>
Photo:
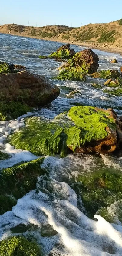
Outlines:
<svg viewBox="0 0 122 256"><path fill-rule="evenodd" d="M41 256L37 243L22 236L13 236L0 242L1 256Z"/></svg>

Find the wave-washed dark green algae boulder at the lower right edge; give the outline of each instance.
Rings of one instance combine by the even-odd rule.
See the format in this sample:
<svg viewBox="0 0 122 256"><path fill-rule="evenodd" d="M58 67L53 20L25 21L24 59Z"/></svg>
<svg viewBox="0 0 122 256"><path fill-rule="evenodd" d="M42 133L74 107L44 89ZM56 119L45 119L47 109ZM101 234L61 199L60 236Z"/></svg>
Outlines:
<svg viewBox="0 0 122 256"><path fill-rule="evenodd" d="M109 207L122 199L122 175L110 168L100 168L99 171L79 175L77 182L75 189L80 189L80 197L87 215L91 218L98 211L103 215L100 210L102 207Z"/></svg>

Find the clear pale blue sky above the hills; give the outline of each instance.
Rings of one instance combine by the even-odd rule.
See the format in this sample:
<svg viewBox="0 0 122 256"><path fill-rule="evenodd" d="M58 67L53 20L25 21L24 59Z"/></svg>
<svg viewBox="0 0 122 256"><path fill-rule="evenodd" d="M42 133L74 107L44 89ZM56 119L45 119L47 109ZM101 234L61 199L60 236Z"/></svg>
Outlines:
<svg viewBox="0 0 122 256"><path fill-rule="evenodd" d="M121 0L2 0L0 24L30 26L107 23L122 18ZM3 21L2 21L3 20Z"/></svg>

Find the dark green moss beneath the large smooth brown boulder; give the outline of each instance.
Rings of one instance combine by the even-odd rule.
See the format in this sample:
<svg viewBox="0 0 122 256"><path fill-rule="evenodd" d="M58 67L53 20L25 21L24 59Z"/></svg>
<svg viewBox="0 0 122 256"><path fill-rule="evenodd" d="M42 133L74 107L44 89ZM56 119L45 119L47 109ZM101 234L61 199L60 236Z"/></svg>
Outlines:
<svg viewBox="0 0 122 256"><path fill-rule="evenodd" d="M31 107L20 102L0 101L0 121L15 119L30 111Z"/></svg>

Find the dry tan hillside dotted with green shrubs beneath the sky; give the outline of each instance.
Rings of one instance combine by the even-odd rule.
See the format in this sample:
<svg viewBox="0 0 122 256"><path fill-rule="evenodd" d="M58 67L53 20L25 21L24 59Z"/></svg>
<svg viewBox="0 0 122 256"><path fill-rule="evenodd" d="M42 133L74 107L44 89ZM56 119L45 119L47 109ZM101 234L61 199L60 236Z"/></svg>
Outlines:
<svg viewBox="0 0 122 256"><path fill-rule="evenodd" d="M68 42L98 49L121 52L122 19L110 23L88 24L78 28L68 26L29 27L16 24L0 26L0 33L38 39Z"/></svg>

